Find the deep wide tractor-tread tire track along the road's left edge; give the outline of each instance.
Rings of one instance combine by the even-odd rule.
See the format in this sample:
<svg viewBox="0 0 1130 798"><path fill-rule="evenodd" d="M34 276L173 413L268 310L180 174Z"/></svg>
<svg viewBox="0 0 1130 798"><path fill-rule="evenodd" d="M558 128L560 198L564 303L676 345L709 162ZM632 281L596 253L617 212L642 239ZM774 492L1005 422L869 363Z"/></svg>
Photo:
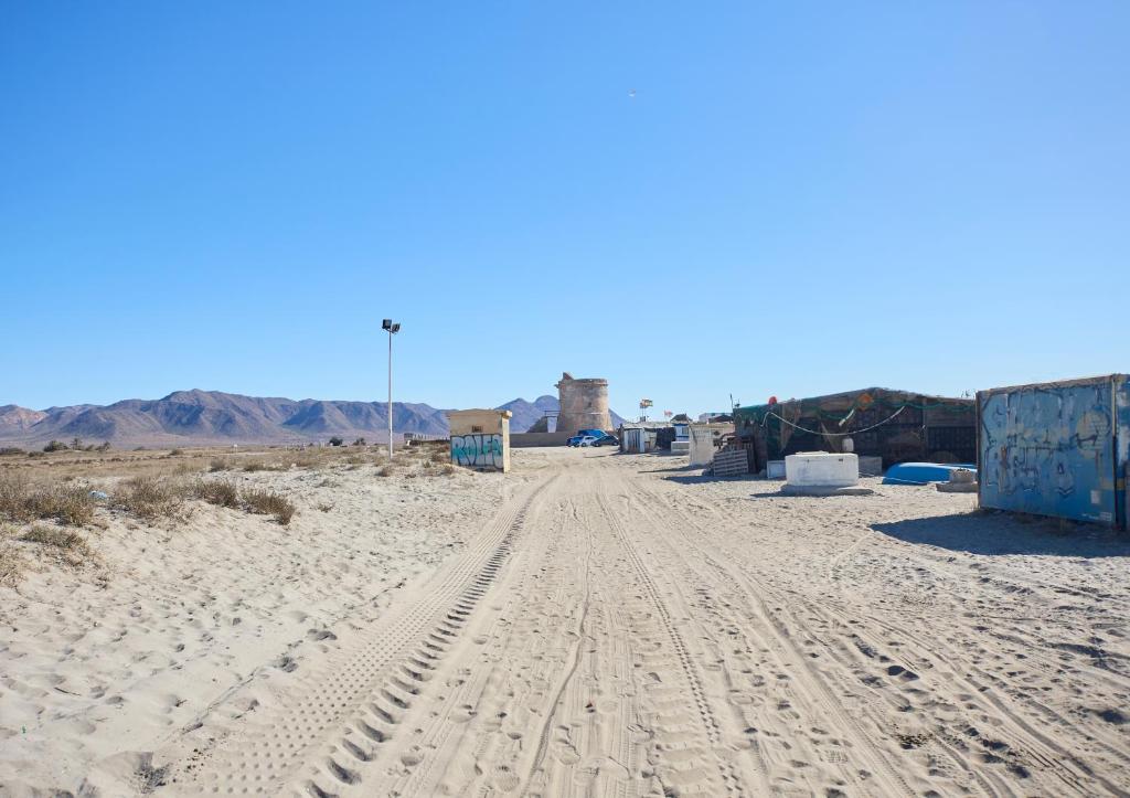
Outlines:
<svg viewBox="0 0 1130 798"><path fill-rule="evenodd" d="M189 762L174 762L179 778L171 792L328 798L359 784L495 579L531 504L555 479L503 508L433 575L418 601L332 651L293 699L214 739L210 749L198 748Z"/></svg>

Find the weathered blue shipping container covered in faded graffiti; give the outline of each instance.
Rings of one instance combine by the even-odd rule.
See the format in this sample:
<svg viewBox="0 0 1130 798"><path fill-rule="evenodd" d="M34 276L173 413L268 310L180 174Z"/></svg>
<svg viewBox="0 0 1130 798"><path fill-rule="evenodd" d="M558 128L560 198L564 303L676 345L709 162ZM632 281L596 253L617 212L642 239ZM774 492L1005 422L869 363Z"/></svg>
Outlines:
<svg viewBox="0 0 1130 798"><path fill-rule="evenodd" d="M1130 378L977 392L982 508L1127 528Z"/></svg>

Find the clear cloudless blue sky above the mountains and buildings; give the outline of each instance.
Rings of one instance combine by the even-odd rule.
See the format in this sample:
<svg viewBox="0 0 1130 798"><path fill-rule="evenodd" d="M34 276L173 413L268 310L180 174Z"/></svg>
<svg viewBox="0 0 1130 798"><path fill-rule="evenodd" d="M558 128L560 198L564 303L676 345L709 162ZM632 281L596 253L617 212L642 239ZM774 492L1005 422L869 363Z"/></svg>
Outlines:
<svg viewBox="0 0 1130 798"><path fill-rule="evenodd" d="M397 398L440 407L1128 370L1128 32L1090 0L5 3L0 404L381 399L385 315Z"/></svg>

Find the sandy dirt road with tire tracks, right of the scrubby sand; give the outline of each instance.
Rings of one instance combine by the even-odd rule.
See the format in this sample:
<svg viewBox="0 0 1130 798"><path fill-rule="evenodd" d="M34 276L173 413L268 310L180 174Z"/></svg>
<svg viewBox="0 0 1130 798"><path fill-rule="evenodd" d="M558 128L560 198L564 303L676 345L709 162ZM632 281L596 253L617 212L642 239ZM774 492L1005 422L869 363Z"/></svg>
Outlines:
<svg viewBox="0 0 1130 798"><path fill-rule="evenodd" d="M380 618L155 752L150 788L1128 793L1124 540L666 462L554 452Z"/></svg>

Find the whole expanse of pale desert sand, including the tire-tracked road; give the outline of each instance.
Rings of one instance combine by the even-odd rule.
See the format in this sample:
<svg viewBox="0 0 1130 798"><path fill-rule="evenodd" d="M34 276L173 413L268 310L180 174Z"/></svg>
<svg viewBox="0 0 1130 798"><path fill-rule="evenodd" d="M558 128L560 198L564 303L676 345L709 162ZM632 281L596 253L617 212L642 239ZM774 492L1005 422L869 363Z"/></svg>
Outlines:
<svg viewBox="0 0 1130 798"><path fill-rule="evenodd" d="M1130 792L1130 539L676 458L249 474L0 588L0 795ZM323 510L322 508L329 508Z"/></svg>

